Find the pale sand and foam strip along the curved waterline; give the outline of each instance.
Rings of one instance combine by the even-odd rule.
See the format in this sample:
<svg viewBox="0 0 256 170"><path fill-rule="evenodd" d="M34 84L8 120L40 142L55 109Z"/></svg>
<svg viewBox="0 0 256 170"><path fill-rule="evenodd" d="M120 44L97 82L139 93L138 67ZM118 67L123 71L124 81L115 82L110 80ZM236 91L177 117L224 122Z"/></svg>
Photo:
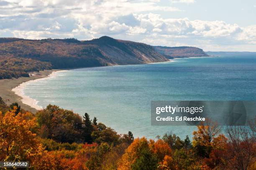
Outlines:
<svg viewBox="0 0 256 170"><path fill-rule="evenodd" d="M43 80L43 79L51 79L51 78L54 78L54 77L56 76L56 73L57 73L57 72L64 72L64 71L67 71L67 70L52 71L51 74L49 74L48 76L41 76L41 78L39 78L39 79L34 79L34 80L29 80L29 81L23 82L22 84L20 84L20 85L16 86L15 88L13 88L12 91L13 91L16 95L18 95L18 96L20 96L20 97L22 98L22 99L20 99L20 101L21 101L23 104L26 104L26 105L28 105L28 106L30 106L30 107L36 109L36 110L41 110L41 109L43 109L43 107L38 105L38 101L35 100L35 99L32 99L32 98L29 97L29 96L26 96L26 95L24 94L24 91L23 91L23 90L26 88L26 86L27 86L28 84L30 84L30 83L33 82L33 81L41 81L41 80Z"/></svg>

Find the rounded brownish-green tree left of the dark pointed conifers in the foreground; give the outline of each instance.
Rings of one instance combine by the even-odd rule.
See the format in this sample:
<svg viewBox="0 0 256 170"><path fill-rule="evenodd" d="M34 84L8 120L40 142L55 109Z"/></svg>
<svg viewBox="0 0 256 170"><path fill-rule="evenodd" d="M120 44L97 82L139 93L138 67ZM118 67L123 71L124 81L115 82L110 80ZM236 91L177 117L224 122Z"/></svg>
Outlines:
<svg viewBox="0 0 256 170"><path fill-rule="evenodd" d="M49 104L36 113L40 137L57 142L84 142L82 118L72 111Z"/></svg>

